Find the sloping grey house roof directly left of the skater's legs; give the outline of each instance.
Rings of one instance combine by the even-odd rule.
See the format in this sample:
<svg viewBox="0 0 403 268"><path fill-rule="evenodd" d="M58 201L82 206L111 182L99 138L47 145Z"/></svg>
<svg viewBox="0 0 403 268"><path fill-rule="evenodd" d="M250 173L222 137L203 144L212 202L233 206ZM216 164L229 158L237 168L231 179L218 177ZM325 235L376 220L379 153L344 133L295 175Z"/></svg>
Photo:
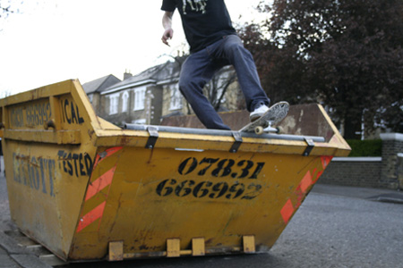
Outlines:
<svg viewBox="0 0 403 268"><path fill-rule="evenodd" d="M110 86L103 90L103 94L119 91L124 88L133 88L146 84L158 84L161 82L172 82L179 78L181 71L181 63L184 62L183 58L176 59L175 62L162 63L153 66L146 71L133 75L133 77L123 80L115 85Z"/></svg>

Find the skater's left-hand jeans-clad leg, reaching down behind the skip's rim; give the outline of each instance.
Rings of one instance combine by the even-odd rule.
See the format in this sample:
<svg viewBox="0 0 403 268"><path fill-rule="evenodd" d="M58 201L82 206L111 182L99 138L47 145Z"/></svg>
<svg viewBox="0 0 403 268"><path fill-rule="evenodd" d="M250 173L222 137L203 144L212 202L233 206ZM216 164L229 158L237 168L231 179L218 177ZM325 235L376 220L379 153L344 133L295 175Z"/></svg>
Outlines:
<svg viewBox="0 0 403 268"><path fill-rule="evenodd" d="M191 54L182 65L179 89L206 128L230 130L202 92L204 85L211 80L217 68L206 50Z"/></svg>

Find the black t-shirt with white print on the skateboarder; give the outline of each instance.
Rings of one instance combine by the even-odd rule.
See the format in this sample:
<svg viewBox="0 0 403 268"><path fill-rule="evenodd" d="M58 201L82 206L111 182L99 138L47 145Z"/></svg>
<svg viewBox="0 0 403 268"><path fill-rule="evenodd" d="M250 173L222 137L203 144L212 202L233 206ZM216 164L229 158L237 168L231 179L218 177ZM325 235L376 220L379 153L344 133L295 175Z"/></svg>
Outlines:
<svg viewBox="0 0 403 268"><path fill-rule="evenodd" d="M179 11L191 53L236 34L224 0L163 0L161 10Z"/></svg>

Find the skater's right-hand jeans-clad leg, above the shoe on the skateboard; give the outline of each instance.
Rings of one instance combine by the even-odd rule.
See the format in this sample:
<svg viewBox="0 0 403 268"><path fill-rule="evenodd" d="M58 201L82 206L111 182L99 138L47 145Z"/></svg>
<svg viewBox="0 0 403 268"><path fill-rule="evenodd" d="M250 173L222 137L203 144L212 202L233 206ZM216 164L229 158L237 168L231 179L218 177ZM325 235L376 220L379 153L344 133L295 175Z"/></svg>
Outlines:
<svg viewBox="0 0 403 268"><path fill-rule="evenodd" d="M241 38L236 35L227 36L219 41L210 53L217 59L227 60L234 65L239 85L244 93L246 108L249 112L261 105L270 105L270 99L262 89L252 54L244 48Z"/></svg>

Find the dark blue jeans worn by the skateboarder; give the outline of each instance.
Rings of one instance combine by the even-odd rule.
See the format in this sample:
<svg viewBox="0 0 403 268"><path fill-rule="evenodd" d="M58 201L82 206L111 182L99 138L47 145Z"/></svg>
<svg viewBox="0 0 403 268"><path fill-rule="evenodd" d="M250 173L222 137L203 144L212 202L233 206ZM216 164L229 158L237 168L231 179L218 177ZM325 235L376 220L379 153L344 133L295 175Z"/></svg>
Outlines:
<svg viewBox="0 0 403 268"><path fill-rule="evenodd" d="M224 37L191 54L182 66L179 80L179 89L208 129L230 130L202 93L202 88L212 79L214 73L229 64L236 69L249 112L258 105L270 104L270 99L262 89L252 54L244 48L241 38L236 35Z"/></svg>

